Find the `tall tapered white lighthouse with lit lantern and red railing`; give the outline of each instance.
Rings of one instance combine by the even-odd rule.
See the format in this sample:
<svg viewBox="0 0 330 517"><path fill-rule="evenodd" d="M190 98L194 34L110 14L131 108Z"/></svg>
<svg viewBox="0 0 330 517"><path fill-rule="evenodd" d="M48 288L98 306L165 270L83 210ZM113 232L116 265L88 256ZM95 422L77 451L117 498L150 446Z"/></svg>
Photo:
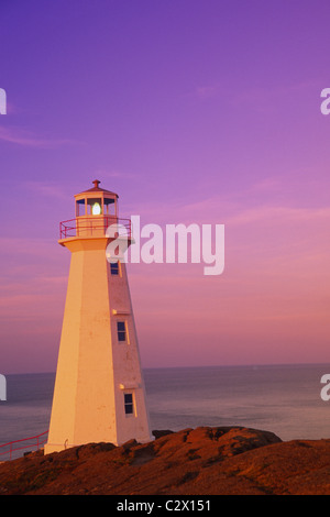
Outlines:
<svg viewBox="0 0 330 517"><path fill-rule="evenodd" d="M119 238L109 228L121 228L132 244L118 195L95 180L75 196L75 219L59 224L58 242L72 255L46 454L153 439L127 268L107 256Z"/></svg>

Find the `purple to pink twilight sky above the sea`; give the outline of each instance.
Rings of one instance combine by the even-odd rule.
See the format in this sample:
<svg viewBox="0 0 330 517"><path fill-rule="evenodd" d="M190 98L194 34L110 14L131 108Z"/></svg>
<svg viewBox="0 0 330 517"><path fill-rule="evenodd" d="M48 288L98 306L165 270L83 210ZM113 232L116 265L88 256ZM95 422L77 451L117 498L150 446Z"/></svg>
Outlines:
<svg viewBox="0 0 330 517"><path fill-rule="evenodd" d="M329 363L328 0L1 0L0 371L54 372L101 186L142 224L224 224L224 271L128 264L144 367Z"/></svg>

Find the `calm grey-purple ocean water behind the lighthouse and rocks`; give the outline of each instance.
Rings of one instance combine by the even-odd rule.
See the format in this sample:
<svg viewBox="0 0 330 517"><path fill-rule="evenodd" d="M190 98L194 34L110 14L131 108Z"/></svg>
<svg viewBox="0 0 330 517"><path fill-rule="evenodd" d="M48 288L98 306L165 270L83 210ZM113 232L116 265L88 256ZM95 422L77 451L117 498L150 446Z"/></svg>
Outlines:
<svg viewBox="0 0 330 517"><path fill-rule="evenodd" d="M145 369L151 428L243 426L285 441L330 439L330 400L320 396L327 373L329 364ZM47 431L55 373L6 378L0 444Z"/></svg>

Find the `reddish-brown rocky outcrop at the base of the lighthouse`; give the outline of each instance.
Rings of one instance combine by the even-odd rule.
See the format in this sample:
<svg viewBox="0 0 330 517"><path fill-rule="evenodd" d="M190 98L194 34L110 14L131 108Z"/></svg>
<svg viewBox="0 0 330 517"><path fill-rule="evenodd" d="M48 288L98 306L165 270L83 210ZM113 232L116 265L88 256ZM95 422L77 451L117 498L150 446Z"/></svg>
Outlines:
<svg viewBox="0 0 330 517"><path fill-rule="evenodd" d="M330 440L283 442L268 431L154 431L121 447L90 443L0 464L0 495L330 494Z"/></svg>

